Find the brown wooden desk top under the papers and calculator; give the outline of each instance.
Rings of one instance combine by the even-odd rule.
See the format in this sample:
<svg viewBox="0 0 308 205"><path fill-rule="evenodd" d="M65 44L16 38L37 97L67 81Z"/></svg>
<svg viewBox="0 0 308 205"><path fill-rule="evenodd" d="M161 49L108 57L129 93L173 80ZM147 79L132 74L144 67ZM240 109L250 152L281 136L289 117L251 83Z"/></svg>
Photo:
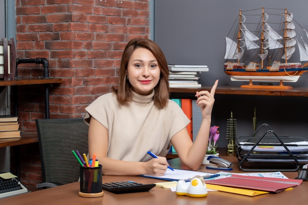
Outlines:
<svg viewBox="0 0 308 205"><path fill-rule="evenodd" d="M234 163L232 172L241 172L234 156L224 157ZM179 159L169 161L170 166L180 168ZM180 166L180 167L178 167ZM184 167L182 167L184 168ZM200 171L216 173L215 170L207 170L204 166ZM243 173L243 172L242 172ZM289 178L297 176L297 172L283 172ZM161 180L141 176L103 176L103 182L134 180L141 183L154 183ZM306 204L308 193L308 181L303 181L300 186L293 190L284 191L278 194L265 194L255 197L231 194L219 191L209 191L205 198L189 198L176 196L170 189L154 187L149 192L112 194L104 191L103 197L82 198L78 196L79 182L63 186L31 192L19 196L1 199L0 204L5 205L291 205Z"/></svg>

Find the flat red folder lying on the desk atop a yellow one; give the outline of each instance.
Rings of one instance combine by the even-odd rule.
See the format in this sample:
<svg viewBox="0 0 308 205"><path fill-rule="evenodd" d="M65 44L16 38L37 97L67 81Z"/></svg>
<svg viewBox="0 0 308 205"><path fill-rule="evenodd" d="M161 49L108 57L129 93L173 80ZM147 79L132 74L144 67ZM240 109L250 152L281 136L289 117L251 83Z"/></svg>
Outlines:
<svg viewBox="0 0 308 205"><path fill-rule="evenodd" d="M241 176L241 175L232 175L226 178L205 181L205 183L208 184L261 190L274 193L279 193L287 188L298 186L302 182L303 182L302 179L285 179L285 178Z"/></svg>

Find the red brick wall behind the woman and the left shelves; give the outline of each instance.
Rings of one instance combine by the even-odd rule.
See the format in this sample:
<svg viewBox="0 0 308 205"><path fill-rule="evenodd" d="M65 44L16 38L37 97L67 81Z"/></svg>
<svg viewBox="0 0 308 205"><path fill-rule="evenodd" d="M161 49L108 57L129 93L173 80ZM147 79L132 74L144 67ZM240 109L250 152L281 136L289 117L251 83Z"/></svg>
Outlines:
<svg viewBox="0 0 308 205"><path fill-rule="evenodd" d="M149 16L149 0L16 0L17 58L46 58L50 76L63 79L50 87L50 118L83 117L94 99L117 85L123 49L132 38L149 38ZM18 75L42 76L43 68L20 64ZM35 119L44 118L43 88L18 88L23 131L36 131ZM40 182L37 147L21 146L36 149L21 157L24 184Z"/></svg>

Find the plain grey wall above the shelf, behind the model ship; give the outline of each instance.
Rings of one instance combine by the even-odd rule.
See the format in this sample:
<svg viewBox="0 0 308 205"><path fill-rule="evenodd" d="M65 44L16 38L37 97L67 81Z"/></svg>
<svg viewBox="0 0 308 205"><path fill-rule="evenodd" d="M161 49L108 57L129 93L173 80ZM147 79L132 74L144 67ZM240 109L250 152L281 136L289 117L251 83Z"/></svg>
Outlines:
<svg viewBox="0 0 308 205"><path fill-rule="evenodd" d="M223 72L224 36L240 9L262 7L287 8L308 30L308 0L155 0L154 40L170 64L208 64L210 71L200 80L203 86L215 79L221 86L243 85ZM308 74L291 86L308 87Z"/></svg>

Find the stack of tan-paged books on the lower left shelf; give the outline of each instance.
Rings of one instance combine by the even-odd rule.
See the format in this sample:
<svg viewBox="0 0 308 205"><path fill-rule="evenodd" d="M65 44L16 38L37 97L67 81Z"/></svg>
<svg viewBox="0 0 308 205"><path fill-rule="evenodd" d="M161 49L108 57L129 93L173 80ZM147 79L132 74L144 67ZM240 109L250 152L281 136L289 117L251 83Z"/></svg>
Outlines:
<svg viewBox="0 0 308 205"><path fill-rule="evenodd" d="M18 117L0 116L0 139L20 137Z"/></svg>

